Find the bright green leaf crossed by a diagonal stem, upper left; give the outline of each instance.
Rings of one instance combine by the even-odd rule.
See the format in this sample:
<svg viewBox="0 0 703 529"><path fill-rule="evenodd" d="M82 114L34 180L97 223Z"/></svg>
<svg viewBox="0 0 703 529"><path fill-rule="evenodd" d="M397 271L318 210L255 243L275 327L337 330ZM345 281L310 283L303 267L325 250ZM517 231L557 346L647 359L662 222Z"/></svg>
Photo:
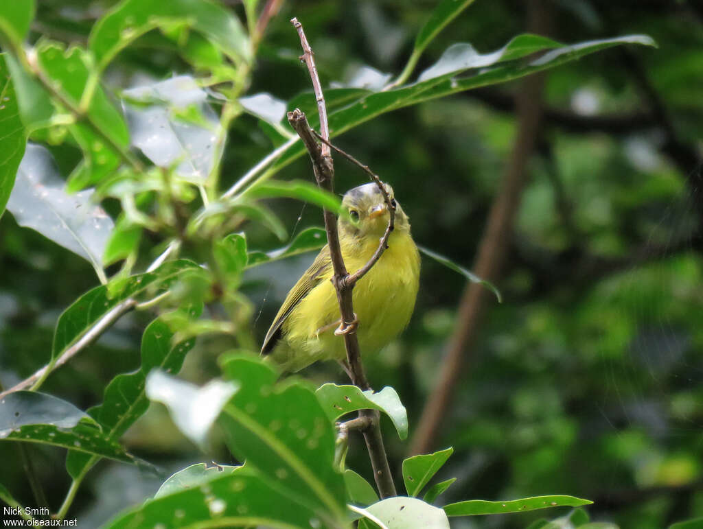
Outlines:
<svg viewBox="0 0 703 529"><path fill-rule="evenodd" d="M93 58L91 53L72 46L64 48L63 44L52 41L42 41L37 46L39 66L53 84L68 100L78 105L84 91L91 86ZM69 178L68 190L71 192L93 185L108 176L120 165L122 159L119 152L93 129L101 127L103 133L119 148L127 148L129 134L122 114L115 108L102 87L92 83L94 92L87 107L87 115L91 124L79 120L68 126L72 136L83 151L84 159L72 172Z"/></svg>

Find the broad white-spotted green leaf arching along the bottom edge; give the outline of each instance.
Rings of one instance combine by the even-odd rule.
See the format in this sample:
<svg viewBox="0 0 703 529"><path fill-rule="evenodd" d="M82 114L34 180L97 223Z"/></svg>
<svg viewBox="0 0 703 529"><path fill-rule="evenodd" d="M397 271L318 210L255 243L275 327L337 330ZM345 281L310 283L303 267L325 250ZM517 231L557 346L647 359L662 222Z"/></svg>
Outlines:
<svg viewBox="0 0 703 529"><path fill-rule="evenodd" d="M200 486L148 500L105 525L136 527L346 527L321 517L249 465Z"/></svg>

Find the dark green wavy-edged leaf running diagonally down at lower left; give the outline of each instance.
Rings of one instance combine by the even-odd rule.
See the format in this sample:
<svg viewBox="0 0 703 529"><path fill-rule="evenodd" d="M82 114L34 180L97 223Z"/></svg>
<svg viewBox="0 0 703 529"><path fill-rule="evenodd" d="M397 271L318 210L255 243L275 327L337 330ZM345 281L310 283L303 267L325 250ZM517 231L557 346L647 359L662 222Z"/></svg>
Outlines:
<svg viewBox="0 0 703 529"><path fill-rule="evenodd" d="M201 307L183 309L191 318L197 318ZM141 417L149 407L146 398L146 375L154 368L177 373L181 370L183 359L195 344L194 339L173 343L174 332L162 320L151 322L141 337L141 367L134 373L118 374L105 388L103 403L91 407L88 414L103 427L106 435L119 439ZM66 469L72 478L84 475L98 457L89 457L71 451L66 458Z"/></svg>

